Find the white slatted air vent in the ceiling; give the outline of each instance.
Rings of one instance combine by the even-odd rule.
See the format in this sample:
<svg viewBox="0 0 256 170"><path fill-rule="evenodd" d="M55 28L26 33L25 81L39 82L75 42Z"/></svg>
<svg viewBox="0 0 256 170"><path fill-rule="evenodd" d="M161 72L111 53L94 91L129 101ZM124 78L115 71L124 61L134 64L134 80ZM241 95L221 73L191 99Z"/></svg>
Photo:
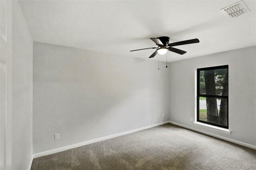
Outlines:
<svg viewBox="0 0 256 170"><path fill-rule="evenodd" d="M244 1L236 2L230 6L221 9L221 12L225 14L228 18L237 18L247 12L250 12L249 8L244 4Z"/></svg>

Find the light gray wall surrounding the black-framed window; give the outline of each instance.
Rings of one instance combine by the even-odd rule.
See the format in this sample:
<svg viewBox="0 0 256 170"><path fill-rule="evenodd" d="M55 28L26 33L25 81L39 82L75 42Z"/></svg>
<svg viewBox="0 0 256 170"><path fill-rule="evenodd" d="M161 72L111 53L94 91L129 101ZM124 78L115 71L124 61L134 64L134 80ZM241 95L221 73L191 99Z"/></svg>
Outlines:
<svg viewBox="0 0 256 170"><path fill-rule="evenodd" d="M195 126L196 68L228 64L231 135ZM170 63L170 121L256 145L256 47Z"/></svg>

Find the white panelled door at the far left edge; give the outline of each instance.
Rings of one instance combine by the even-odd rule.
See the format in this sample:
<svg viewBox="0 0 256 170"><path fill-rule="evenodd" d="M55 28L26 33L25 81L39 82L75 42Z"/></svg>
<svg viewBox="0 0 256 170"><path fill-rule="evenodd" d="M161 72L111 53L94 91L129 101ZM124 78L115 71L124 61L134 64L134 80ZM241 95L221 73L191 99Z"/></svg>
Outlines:
<svg viewBox="0 0 256 170"><path fill-rule="evenodd" d="M5 94L4 100L0 100L0 106L5 107L5 113L0 113L0 116L4 117L4 135L0 134L0 138L3 136L5 137L4 142L4 163L3 169L11 170L12 169L12 1L8 0L0 0L0 20L3 25L1 27L1 34L0 34L0 63L1 63L1 70L5 71ZM0 23L0 24L1 24ZM2 83L1 83L2 84ZM1 96L1 94L0 94ZM4 102L4 104L2 104ZM1 111L2 112L2 111ZM1 120L0 120L1 121ZM3 123L2 123L3 125ZM1 126L1 125L0 125ZM0 128L3 130L3 127ZM2 137L2 138L3 138ZM1 139L0 139L1 141ZM3 158L3 156L2 156ZM1 158L0 158L1 159ZM2 167L1 167L2 168ZM2 169L1 169L2 170Z"/></svg>

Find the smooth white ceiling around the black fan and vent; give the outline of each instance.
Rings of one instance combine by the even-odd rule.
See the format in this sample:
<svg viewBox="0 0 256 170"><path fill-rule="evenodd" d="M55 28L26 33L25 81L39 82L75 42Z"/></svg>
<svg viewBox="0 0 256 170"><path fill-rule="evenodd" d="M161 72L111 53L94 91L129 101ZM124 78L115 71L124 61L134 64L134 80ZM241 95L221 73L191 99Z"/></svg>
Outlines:
<svg viewBox="0 0 256 170"><path fill-rule="evenodd" d="M235 19L220 9L238 1L20 1L34 41L148 59L157 47L150 37L168 36L176 46L168 62L256 45L256 1ZM156 55L149 60L166 61Z"/></svg>

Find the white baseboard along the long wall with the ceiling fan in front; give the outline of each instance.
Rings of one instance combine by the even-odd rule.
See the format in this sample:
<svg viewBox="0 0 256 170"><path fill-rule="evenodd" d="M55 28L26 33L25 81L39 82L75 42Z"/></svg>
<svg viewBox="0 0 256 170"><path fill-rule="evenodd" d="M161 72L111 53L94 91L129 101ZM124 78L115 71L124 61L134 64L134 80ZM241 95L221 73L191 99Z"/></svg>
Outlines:
<svg viewBox="0 0 256 170"><path fill-rule="evenodd" d="M111 138L114 138L114 137L126 135L126 134L133 133L133 132L136 132L136 131L141 131L141 130L148 129L148 128L151 128L151 127L156 127L156 126L159 126L159 125L163 125L163 124L166 124L166 123L169 123L169 122L170 121L164 121L164 122L161 122L161 123L157 123L157 124L154 124L154 125L149 125L149 126L146 126L146 127L141 127L141 128L126 131L126 132L116 133L114 135L109 135L109 136L101 137L101 138L98 138L98 139L92 139L90 141L76 143L74 145L68 145L66 147L61 147L61 148L57 148L57 149L47 150L47 151L44 151L44 152L39 152L39 153L34 154L33 157L38 158L40 156L45 156L45 155L48 155L48 154L54 154L54 153L57 153L57 152L62 152L64 150L73 149L73 148L76 148L76 147L81 147L81 146L84 146L84 145L88 145L90 143L95 143L95 142L103 141L103 140L106 140L106 139L111 139Z"/></svg>

